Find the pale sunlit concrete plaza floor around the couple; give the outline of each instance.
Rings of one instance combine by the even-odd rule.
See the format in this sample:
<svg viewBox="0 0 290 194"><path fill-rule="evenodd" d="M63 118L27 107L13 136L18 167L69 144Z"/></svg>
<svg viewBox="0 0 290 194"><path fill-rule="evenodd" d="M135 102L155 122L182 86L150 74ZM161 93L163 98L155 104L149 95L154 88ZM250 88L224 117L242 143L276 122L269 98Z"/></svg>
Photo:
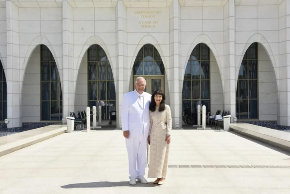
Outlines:
<svg viewBox="0 0 290 194"><path fill-rule="evenodd" d="M1 156L0 193L290 193L290 154L232 132L173 130L169 165L130 186L121 130L63 133Z"/></svg>

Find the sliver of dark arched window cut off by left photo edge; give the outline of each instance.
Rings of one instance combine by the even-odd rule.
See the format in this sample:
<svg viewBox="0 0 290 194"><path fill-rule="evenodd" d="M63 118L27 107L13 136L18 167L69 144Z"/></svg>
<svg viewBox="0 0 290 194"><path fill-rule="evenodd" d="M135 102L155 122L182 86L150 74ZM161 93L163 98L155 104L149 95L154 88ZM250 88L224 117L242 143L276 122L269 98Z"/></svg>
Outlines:
<svg viewBox="0 0 290 194"><path fill-rule="evenodd" d="M4 69L0 61L0 120L7 119L7 85Z"/></svg>

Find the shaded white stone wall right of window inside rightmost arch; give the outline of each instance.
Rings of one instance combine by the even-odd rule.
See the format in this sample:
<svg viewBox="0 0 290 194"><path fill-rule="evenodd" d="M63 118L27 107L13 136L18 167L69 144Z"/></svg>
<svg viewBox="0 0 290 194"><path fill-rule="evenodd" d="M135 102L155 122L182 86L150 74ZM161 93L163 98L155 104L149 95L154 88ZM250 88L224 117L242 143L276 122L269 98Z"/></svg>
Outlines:
<svg viewBox="0 0 290 194"><path fill-rule="evenodd" d="M259 120L277 120L277 83L274 68L258 44Z"/></svg>

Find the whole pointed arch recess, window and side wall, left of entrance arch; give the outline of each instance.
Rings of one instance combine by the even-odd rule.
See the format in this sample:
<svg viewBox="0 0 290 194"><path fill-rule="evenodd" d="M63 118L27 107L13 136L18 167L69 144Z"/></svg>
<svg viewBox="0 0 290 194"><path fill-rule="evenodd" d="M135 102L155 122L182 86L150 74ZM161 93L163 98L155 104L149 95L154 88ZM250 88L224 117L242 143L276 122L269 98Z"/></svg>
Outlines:
<svg viewBox="0 0 290 194"><path fill-rule="evenodd" d="M109 120L109 113L116 111L115 75L106 51L100 44L91 43L88 48L83 47L83 56L79 61L76 91L83 92L76 92L74 106L76 110L101 106L102 120Z"/></svg>

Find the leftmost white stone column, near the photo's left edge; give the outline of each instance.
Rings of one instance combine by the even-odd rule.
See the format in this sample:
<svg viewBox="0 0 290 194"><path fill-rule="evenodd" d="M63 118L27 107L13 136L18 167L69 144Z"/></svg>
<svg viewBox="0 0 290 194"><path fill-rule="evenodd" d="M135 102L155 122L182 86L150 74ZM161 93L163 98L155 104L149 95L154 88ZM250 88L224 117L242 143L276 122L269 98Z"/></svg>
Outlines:
<svg viewBox="0 0 290 194"><path fill-rule="evenodd" d="M19 65L19 8L6 1L7 24L7 118L8 128L22 127L21 87L24 71Z"/></svg>

